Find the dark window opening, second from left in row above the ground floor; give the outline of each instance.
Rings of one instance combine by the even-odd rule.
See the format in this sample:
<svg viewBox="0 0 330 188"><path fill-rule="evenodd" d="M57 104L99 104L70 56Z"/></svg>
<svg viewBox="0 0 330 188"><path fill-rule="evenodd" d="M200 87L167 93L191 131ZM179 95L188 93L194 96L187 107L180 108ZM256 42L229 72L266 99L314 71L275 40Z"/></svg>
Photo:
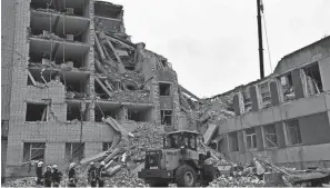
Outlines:
<svg viewBox="0 0 330 188"><path fill-rule="evenodd" d="M89 103L86 103L84 109L83 109L83 105L81 106L79 102L68 103L67 120L68 121L74 121L74 120L88 121L89 120L88 107L89 107Z"/></svg>

